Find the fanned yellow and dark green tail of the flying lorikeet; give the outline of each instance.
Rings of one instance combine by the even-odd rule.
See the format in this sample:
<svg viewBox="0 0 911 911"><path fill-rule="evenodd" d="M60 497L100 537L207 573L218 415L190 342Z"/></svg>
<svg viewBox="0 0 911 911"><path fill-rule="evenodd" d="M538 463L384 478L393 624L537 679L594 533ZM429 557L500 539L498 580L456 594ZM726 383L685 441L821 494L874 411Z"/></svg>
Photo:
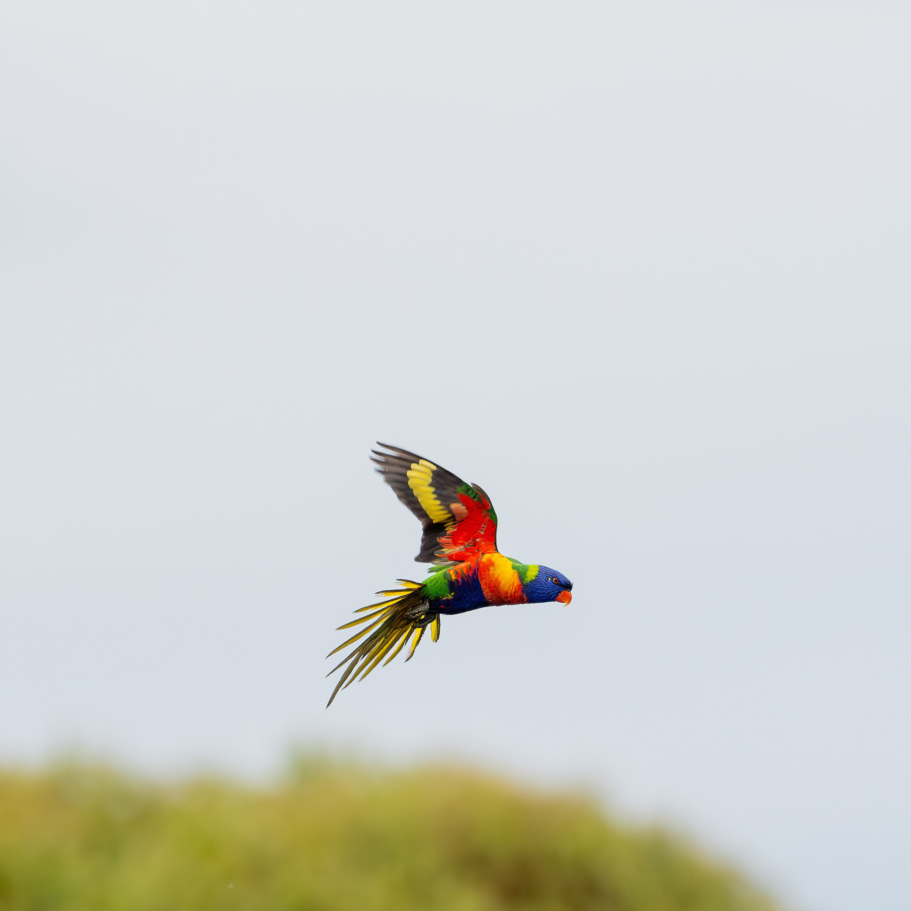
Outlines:
<svg viewBox="0 0 911 911"><path fill-rule="evenodd" d="M433 640L439 639L440 615L431 613L426 609L422 611L421 609L426 604L423 596L424 585L421 582L413 582L407 578L400 578L398 581L404 586L403 589L377 592L378 595L392 595L394 597L359 609L357 612L378 608L365 617L353 619L339 627L340 630L347 630L349 627L357 626L360 623L368 624L363 630L358 630L351 639L345 640L338 648L329 652L330 655L343 650L363 636L367 638L360 645L355 646L352 651L335 665L333 670L329 671L331 675L343 665L348 665L338 683L335 684L333 694L326 703L327 709L333 704L333 699L335 699L339 690L351 686L358 679L363 680L392 650L392 654L384 661L384 665L388 664L409 640L411 640L411 649L408 651L408 657L405 660L411 660L418 643L424 637L424 630L428 623L431 626ZM373 622L368 623L370 620L373 620ZM370 633L369 636L367 635L368 633Z"/></svg>

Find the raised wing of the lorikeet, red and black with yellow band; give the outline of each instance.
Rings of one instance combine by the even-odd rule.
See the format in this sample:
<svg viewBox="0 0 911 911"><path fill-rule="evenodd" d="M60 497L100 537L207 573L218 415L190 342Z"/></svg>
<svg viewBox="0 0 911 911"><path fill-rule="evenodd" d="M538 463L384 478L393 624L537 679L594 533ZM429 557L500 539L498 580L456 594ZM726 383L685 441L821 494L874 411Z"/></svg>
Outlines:
<svg viewBox="0 0 911 911"><path fill-rule="evenodd" d="M384 481L424 526L418 563L455 566L496 552L496 513L490 497L420 455L380 443L372 460Z"/></svg>

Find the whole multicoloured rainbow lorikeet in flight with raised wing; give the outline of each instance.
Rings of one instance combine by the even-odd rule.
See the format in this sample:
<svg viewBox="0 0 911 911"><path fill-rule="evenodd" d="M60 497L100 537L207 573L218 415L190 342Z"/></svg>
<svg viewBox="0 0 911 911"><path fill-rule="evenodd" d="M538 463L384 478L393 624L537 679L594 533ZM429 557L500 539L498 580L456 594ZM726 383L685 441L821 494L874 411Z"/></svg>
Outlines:
<svg viewBox="0 0 911 911"><path fill-rule="evenodd" d="M333 674L348 665L328 705L343 686L363 680L386 655L384 663L388 664L409 641L405 660L410 660L428 626L433 640L438 640L442 614L464 614L493 604L568 604L572 599L572 582L556 569L519 563L496 549L496 513L479 486L466 484L406 449L378 445L388 452L373 450L376 470L424 526L421 552L415 560L435 566L425 582L400 578L403 589L378 591L378 595L390 597L359 609L357 613L374 610L339 627L345 630L370 621L330 655L370 635L329 671Z"/></svg>

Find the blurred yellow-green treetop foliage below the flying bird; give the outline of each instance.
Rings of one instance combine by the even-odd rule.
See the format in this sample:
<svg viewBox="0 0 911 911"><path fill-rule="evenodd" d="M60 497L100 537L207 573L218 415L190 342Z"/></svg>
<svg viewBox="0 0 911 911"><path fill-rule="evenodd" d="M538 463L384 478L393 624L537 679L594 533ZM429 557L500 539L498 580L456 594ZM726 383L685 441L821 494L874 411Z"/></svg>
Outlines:
<svg viewBox="0 0 911 911"><path fill-rule="evenodd" d="M732 869L572 794L300 759L281 784L0 772L4 911L773 911Z"/></svg>

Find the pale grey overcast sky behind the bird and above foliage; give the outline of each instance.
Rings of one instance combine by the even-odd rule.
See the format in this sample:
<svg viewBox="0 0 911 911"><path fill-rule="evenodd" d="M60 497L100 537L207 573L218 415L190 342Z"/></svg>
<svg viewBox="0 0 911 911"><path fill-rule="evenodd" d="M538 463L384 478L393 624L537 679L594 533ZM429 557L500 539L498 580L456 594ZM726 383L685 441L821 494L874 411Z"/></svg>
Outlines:
<svg viewBox="0 0 911 911"><path fill-rule="evenodd" d="M0 16L0 756L452 756L911 906L905 6ZM574 597L325 711L376 439Z"/></svg>

